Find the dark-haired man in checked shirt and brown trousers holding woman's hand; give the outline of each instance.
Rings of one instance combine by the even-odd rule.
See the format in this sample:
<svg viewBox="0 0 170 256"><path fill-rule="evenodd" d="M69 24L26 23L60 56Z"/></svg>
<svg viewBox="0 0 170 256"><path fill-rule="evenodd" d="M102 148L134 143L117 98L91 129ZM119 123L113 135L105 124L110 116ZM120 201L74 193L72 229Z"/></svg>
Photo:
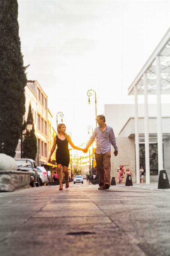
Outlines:
<svg viewBox="0 0 170 256"><path fill-rule="evenodd" d="M109 189L111 145L114 147L115 156L118 154L118 149L113 129L105 124L105 116L99 115L96 120L99 126L95 128L83 152L87 153L89 146L96 138L95 158L99 173L98 189Z"/></svg>

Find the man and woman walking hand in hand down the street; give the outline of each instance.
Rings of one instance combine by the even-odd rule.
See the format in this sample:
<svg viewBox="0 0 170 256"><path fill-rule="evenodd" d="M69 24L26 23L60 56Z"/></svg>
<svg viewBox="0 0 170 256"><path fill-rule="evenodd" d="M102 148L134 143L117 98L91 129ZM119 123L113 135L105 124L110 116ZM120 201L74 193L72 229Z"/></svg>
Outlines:
<svg viewBox="0 0 170 256"><path fill-rule="evenodd" d="M53 154L56 145L56 162L57 162L57 174L59 178L60 187L59 190L63 189L62 185L62 166L63 172L66 178L66 189L69 187L68 181L68 166L70 160L68 143L72 146L72 148L81 150L84 153L87 153L88 148L92 145L93 141L96 138L96 149L95 149L95 158L97 170L99 173L99 188L98 189L109 189L110 187L110 157L111 157L111 145L114 147L114 155L118 154L118 149L116 145L116 139L114 136L113 129L105 124L105 116L99 115L96 117L97 126L89 139L89 142L86 145L86 148L78 148L74 146L71 141L71 138L68 134L65 133L66 126L63 123L57 125L57 133L54 137L54 143L51 148L50 156L48 158L48 162L51 161L51 155Z"/></svg>

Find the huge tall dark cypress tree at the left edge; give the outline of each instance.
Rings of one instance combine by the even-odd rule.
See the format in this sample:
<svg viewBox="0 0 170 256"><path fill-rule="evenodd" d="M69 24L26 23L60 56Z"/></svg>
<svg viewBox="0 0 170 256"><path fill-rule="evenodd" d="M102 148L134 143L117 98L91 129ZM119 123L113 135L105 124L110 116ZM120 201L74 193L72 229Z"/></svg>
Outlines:
<svg viewBox="0 0 170 256"><path fill-rule="evenodd" d="M23 66L17 0L0 0L0 153L15 156L25 113Z"/></svg>

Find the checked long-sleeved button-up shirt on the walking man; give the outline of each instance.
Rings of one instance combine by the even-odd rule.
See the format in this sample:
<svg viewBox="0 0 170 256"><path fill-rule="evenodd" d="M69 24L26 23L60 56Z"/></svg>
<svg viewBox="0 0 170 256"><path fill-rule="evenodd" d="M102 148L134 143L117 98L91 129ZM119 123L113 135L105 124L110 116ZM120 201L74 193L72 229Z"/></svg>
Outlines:
<svg viewBox="0 0 170 256"><path fill-rule="evenodd" d="M92 136L90 137L89 142L87 143L87 148L89 148L89 146L92 145L93 141L95 140L95 137L96 137L96 149L95 149L96 154L107 153L108 151L111 150L111 145L114 147L115 151L118 151L114 132L110 126L106 125L106 128L104 131L102 131L99 126L97 126Z"/></svg>

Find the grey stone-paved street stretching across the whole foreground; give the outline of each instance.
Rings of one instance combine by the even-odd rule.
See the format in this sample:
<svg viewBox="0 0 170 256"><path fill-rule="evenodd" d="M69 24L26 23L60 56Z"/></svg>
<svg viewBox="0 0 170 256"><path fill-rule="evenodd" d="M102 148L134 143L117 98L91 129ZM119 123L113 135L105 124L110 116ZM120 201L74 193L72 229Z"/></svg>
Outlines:
<svg viewBox="0 0 170 256"><path fill-rule="evenodd" d="M0 255L170 256L170 192L140 186L0 193Z"/></svg>

